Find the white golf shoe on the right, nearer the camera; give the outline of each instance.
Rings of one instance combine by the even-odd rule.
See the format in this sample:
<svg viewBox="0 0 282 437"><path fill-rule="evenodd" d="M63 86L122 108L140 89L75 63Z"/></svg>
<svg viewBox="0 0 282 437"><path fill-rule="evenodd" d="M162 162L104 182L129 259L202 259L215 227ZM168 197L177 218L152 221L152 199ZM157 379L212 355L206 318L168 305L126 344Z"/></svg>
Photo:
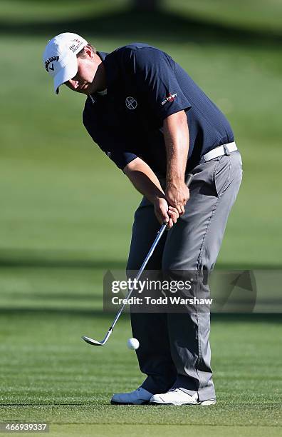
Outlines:
<svg viewBox="0 0 282 437"><path fill-rule="evenodd" d="M207 399L205 401L199 401L198 393L189 395L180 388L172 388L167 393L161 393L153 395L150 399L152 405L213 405L216 403L216 399Z"/></svg>

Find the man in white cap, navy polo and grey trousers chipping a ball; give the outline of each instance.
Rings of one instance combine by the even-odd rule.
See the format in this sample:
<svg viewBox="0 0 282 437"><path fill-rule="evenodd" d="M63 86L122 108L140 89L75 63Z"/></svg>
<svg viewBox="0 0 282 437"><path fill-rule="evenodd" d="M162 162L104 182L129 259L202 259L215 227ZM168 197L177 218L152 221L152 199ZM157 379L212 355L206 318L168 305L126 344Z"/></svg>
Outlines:
<svg viewBox="0 0 282 437"><path fill-rule="evenodd" d="M64 33L48 42L43 65L56 94L64 84L87 96L85 128L144 196L135 213L127 271L139 270L160 223L167 223L169 231L147 269L176 276L209 273L242 176L224 114L171 56L147 44L107 54ZM188 173L194 175L189 189ZM197 305L183 313L132 312L137 358L147 378L111 402L215 403L209 319L209 311Z"/></svg>

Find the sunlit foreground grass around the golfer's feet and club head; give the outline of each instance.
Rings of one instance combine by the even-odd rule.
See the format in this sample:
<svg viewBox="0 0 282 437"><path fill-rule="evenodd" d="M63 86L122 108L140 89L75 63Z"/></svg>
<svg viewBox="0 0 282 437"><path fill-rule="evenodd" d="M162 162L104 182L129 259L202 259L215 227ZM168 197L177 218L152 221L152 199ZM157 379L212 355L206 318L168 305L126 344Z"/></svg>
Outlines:
<svg viewBox="0 0 282 437"><path fill-rule="evenodd" d="M278 436L280 318L213 317L218 403L211 407L111 406L110 396L135 389L142 375L135 353L126 348L127 316L103 348L80 341L84 333L102 338L109 323L110 316L94 311L1 311L1 420L46 421L52 436L68 429L110 436L116 425L118 435L128 436L159 433L162 427L168 436L170 425L179 432L193 426L199 435L219 426L219 436L231 428L242 436L267 428L268 435Z"/></svg>

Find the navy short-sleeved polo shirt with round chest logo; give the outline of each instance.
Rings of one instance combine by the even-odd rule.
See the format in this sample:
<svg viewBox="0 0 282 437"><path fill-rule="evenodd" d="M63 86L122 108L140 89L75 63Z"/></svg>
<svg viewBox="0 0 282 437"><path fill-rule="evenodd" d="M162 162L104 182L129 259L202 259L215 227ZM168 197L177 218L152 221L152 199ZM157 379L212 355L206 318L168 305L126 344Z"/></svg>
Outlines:
<svg viewBox="0 0 282 437"><path fill-rule="evenodd" d="M98 55L107 94L88 96L83 124L120 169L140 157L165 176L163 121L182 110L189 126L187 171L214 147L234 141L224 114L164 51L135 43Z"/></svg>

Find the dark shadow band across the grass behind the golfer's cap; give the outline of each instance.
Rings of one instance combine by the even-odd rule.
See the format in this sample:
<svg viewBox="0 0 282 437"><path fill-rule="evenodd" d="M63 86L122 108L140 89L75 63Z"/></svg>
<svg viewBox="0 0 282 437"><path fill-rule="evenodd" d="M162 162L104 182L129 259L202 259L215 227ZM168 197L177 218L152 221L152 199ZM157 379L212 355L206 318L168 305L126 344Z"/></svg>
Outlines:
<svg viewBox="0 0 282 437"><path fill-rule="evenodd" d="M61 32L72 31L96 38L120 38L132 41L165 41L169 43L220 44L236 46L281 47L282 31L244 29L214 23L193 16L179 16L160 10L157 14L136 12L130 9L100 16L79 17L66 21L38 21L13 23L0 21L0 34L46 36L51 38Z"/></svg>

